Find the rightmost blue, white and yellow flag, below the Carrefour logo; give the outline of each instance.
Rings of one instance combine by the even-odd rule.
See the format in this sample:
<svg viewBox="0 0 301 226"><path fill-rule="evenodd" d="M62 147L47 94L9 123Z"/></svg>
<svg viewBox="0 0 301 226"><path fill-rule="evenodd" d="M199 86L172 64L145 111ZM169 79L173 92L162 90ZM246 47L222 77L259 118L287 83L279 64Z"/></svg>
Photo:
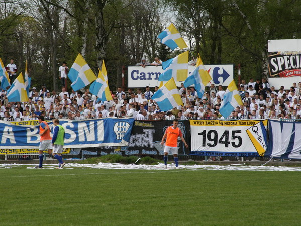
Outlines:
<svg viewBox="0 0 301 226"><path fill-rule="evenodd" d="M233 80L229 84L224 95L224 99L220 107L220 113L226 119L230 116L231 112L240 105L243 105L243 102L241 101L235 81Z"/></svg>

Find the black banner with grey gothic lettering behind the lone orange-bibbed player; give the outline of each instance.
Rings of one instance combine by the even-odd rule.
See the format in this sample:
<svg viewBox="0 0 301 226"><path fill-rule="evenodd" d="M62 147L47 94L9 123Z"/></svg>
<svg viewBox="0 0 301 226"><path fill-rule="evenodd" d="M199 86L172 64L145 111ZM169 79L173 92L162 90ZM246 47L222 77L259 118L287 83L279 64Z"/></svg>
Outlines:
<svg viewBox="0 0 301 226"><path fill-rule="evenodd" d="M141 155L163 155L164 146L160 143L167 127L171 126L172 120L144 121L136 120L132 129L127 147L120 147L120 151L125 151ZM190 127L189 120L180 120L178 127L180 128L188 146L190 143ZM189 148L189 147L188 147ZM117 150L118 151L118 150ZM189 154L184 143L178 137L178 154Z"/></svg>

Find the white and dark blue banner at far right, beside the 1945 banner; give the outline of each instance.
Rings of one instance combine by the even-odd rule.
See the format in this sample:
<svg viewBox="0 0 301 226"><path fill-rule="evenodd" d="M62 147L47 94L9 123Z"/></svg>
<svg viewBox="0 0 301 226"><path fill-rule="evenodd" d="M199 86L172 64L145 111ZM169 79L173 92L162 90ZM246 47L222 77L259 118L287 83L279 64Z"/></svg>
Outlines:
<svg viewBox="0 0 301 226"><path fill-rule="evenodd" d="M265 157L301 159L301 122L269 120Z"/></svg>

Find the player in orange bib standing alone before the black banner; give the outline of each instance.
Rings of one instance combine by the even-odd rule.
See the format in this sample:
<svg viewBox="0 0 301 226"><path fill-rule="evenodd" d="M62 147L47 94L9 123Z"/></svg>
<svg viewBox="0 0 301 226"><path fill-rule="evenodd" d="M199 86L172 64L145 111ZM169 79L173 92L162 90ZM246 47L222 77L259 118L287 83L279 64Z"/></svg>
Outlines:
<svg viewBox="0 0 301 226"><path fill-rule="evenodd" d="M167 168L167 160L168 160L169 152L171 152L174 156L175 168L178 167L178 143L177 143L178 137L181 138L182 142L184 142L184 144L185 144L185 147L188 148L188 145L183 137L183 134L182 134L180 128L178 128L178 124L179 124L179 121L177 119L173 120L173 125L170 127L167 127L165 134L161 141L161 145L163 145L164 140L166 138L165 148L164 148L165 168Z"/></svg>

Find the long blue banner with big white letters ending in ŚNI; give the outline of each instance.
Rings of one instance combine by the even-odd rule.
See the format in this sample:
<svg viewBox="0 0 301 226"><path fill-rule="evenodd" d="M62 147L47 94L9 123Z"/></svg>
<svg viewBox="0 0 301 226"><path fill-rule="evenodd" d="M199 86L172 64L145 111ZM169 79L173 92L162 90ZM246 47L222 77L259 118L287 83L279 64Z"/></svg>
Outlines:
<svg viewBox="0 0 301 226"><path fill-rule="evenodd" d="M65 148L126 146L134 119L106 118L95 120L60 120L65 128ZM54 126L49 122L51 136ZM0 121L0 149L37 148L39 125L23 126Z"/></svg>

